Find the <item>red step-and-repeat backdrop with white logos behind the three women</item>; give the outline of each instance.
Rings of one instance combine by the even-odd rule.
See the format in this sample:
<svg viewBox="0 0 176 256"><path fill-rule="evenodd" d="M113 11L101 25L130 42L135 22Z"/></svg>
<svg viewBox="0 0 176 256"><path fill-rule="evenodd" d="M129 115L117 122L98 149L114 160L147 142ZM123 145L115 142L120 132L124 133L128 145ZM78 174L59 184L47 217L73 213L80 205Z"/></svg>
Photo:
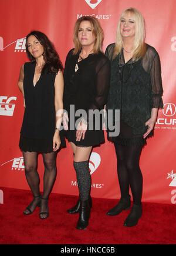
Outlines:
<svg viewBox="0 0 176 256"><path fill-rule="evenodd" d="M85 15L99 19L104 29L103 50L115 41L121 12L137 8L146 23L146 42L157 49L162 68L164 108L158 114L154 137L148 140L140 159L144 177L143 201L176 204L176 1L175 0L0 0L0 189L29 189L22 152L18 147L23 118L23 97L18 89L21 65L28 61L25 36L44 32L55 44L65 64L73 48L73 27ZM106 132L104 132L106 136ZM120 198L117 160L113 144L96 147L90 157L93 197ZM38 172L43 188L42 155ZM2 192L2 191L1 191ZM70 145L57 154L57 179L53 192L78 194Z"/></svg>

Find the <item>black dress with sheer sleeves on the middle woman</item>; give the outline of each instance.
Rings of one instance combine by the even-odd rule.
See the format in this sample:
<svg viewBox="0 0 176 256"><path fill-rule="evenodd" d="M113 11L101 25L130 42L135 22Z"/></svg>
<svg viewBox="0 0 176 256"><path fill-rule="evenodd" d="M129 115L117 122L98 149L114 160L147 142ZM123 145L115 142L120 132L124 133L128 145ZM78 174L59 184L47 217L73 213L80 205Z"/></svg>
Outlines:
<svg viewBox="0 0 176 256"><path fill-rule="evenodd" d="M79 53L73 55L72 49L65 62L63 104L69 116L66 138L79 147L90 147L104 142L102 113L109 91L110 61L102 52L89 54L79 62L78 58ZM96 115L91 111L97 111ZM88 122L87 131L84 139L76 141L76 121L82 117Z"/></svg>

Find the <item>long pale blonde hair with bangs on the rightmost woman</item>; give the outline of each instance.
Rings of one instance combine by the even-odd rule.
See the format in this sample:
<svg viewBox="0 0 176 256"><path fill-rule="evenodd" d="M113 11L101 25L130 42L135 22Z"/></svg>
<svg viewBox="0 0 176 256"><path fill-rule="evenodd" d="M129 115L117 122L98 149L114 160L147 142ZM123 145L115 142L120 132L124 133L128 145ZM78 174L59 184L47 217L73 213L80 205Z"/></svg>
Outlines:
<svg viewBox="0 0 176 256"><path fill-rule="evenodd" d="M136 32L135 32L134 43L133 43L133 48L131 52L133 54L133 61L137 61L138 59L140 59L145 55L146 45L144 42L145 21L144 21L143 15L141 15L141 13L136 8L127 8L122 12L120 16L119 23L117 25L116 45L114 47L113 58L115 58L123 48L123 38L120 33L120 22L121 22L122 16L127 12L130 12L131 18L134 19L134 22L136 24Z"/></svg>

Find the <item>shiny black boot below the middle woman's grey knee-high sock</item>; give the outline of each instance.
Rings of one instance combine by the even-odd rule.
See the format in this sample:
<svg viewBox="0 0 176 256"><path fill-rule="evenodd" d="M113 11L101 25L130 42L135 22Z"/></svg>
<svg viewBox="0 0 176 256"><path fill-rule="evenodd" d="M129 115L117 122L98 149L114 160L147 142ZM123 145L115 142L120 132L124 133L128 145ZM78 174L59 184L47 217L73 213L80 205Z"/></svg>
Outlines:
<svg viewBox="0 0 176 256"><path fill-rule="evenodd" d="M83 230L89 224L90 204L89 200L80 202L79 220L77 222L77 230Z"/></svg>

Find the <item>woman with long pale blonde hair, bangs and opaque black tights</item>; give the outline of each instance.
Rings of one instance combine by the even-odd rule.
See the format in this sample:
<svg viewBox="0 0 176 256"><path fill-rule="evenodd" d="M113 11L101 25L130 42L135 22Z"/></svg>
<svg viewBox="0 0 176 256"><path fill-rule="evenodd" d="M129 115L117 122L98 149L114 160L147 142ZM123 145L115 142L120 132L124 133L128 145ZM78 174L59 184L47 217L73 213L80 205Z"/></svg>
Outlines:
<svg viewBox="0 0 176 256"><path fill-rule="evenodd" d="M130 208L129 187L133 207L124 225L137 224L142 214L143 176L139 159L146 139L153 135L158 108L163 107L161 95L160 58L157 51L145 44L144 18L137 9L123 11L117 26L115 44L107 46L111 61L111 82L108 109L120 109L120 134L114 142L121 198L107 215L120 214ZM109 131L110 132L110 131Z"/></svg>

